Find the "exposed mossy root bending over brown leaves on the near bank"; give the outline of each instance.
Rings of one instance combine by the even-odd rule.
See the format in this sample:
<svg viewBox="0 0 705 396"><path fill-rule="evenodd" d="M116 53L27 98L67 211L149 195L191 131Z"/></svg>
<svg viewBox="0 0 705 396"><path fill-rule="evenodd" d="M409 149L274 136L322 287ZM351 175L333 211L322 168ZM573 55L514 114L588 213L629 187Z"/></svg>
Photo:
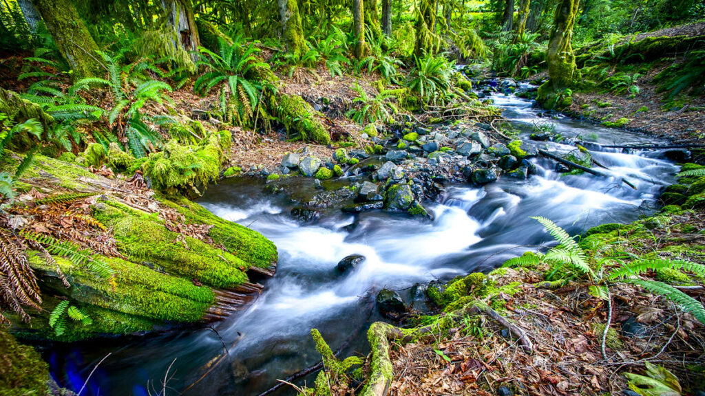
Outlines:
<svg viewBox="0 0 705 396"><path fill-rule="evenodd" d="M497 311L491 309L484 302L470 302L458 311L453 311L453 315L477 315L483 314L492 320L499 323L501 326L509 330L515 336L522 347L527 352L534 350L534 345L527 334L520 327L510 323L507 318L498 314ZM370 366L374 371L370 373L367 385L362 390L362 396L386 396L389 392L389 387L393 380L393 366L389 359L389 341L397 340L401 344L411 342L419 335L424 335L433 332L436 326L424 326L413 331L404 331L400 328L392 326L389 323L375 322L369 327L367 339L372 347L372 363Z"/></svg>

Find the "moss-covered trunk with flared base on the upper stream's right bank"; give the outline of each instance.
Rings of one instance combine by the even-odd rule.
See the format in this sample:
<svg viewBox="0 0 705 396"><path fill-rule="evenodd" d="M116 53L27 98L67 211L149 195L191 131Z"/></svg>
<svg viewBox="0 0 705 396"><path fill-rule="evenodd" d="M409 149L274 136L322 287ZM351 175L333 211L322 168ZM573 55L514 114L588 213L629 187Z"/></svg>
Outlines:
<svg viewBox="0 0 705 396"><path fill-rule="evenodd" d="M556 7L554 26L546 49L549 80L539 87L538 97L539 102L548 107L555 107L558 94L580 75L571 44L578 6L580 0L560 0Z"/></svg>

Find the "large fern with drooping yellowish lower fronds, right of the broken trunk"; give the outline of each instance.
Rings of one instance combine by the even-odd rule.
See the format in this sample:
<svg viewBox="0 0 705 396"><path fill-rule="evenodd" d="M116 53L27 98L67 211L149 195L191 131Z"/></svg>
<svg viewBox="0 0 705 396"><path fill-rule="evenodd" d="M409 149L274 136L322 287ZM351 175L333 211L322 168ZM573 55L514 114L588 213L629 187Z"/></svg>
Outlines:
<svg viewBox="0 0 705 396"><path fill-rule="evenodd" d="M232 42L219 38L219 53L200 47L198 66L208 71L193 85L195 92L207 94L221 87L219 100L226 121L235 125L249 125L259 104L262 85L246 77L252 68L263 66L257 61L257 49L252 43L244 44L242 36Z"/></svg>

